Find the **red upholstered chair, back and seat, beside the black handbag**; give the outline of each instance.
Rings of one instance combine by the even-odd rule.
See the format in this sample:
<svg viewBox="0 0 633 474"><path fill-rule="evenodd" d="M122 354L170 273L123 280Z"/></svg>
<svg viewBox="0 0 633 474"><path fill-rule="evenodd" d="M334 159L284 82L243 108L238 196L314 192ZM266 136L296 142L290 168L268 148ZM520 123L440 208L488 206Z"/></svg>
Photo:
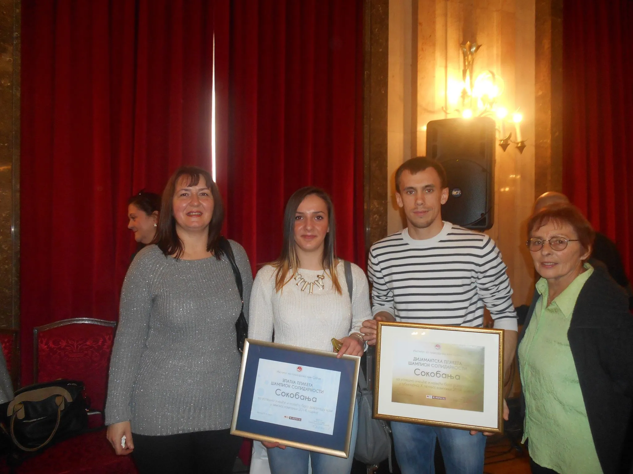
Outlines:
<svg viewBox="0 0 633 474"><path fill-rule="evenodd" d="M99 413L97 425L103 425L101 411L105 406L115 326L113 321L76 318L35 327L33 331L35 382L82 380L91 408L98 410L89 412ZM116 456L106 440L106 431L101 429L45 449L23 462L16 473L135 474L137 470L130 456Z"/></svg>

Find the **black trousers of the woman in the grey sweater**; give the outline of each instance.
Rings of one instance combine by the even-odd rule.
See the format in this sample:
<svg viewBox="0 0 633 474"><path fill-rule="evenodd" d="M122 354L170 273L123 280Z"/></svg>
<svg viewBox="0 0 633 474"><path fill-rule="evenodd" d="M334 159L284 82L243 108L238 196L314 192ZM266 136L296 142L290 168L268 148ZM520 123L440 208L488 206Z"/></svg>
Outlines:
<svg viewBox="0 0 633 474"><path fill-rule="evenodd" d="M132 457L141 474L230 474L242 438L229 430L166 436L132 434Z"/></svg>

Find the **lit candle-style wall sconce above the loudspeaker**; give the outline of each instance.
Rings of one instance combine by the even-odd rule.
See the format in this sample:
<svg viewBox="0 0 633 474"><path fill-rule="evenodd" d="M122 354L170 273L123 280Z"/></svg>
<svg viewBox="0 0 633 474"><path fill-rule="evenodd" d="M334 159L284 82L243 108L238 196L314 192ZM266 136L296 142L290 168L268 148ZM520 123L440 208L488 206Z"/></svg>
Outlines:
<svg viewBox="0 0 633 474"><path fill-rule="evenodd" d="M483 71L476 78L473 75L475 68L475 53L479 51L482 45L467 41L461 46L461 53L463 56L463 68L461 70L461 109L454 109L453 112L457 112L463 118L492 116L499 124L499 147L505 152L510 146L510 143L515 143L515 146L519 153L523 153L525 149L525 140L521 135L521 122L523 115L515 111L511 117L508 116L508 109L503 107L500 103L500 97L503 94L505 83L501 76L496 75L493 71ZM446 94L453 97L453 100L459 100L457 98L457 91L459 90L458 81L452 81L448 83L449 89ZM446 114L452 112L447 111L442 107ZM512 140L512 131L509 131L506 135L506 122L510 121L514 124L514 133L517 140Z"/></svg>

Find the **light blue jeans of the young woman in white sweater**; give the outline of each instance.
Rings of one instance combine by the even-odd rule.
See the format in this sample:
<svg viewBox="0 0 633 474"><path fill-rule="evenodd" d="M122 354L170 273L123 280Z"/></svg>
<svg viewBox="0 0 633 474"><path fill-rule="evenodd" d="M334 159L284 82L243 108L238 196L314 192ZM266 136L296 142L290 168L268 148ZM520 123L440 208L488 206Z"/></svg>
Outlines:
<svg viewBox="0 0 633 474"><path fill-rule="evenodd" d="M272 474L308 474L308 463L311 461L312 474L349 474L354 461L357 432L358 400L354 407L354 422L352 423L352 435L349 441L349 456L347 459L290 446L286 446L285 449L272 447L268 449L270 472Z"/></svg>

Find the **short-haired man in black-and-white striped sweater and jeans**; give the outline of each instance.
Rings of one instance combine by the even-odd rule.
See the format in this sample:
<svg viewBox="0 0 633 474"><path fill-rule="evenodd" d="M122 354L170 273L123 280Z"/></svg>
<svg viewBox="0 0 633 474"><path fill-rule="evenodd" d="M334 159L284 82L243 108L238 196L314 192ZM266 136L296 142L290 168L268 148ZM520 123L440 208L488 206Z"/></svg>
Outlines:
<svg viewBox="0 0 633 474"><path fill-rule="evenodd" d="M368 276L374 319L363 322L361 332L375 344L376 320L481 327L486 306L494 327L505 329L504 358L510 367L517 315L506 265L489 236L442 221L447 199L446 171L439 162L417 157L396 171L396 200L407 227L372 245ZM484 471L481 433L400 422L391 428L403 474L434 473L436 439L448 474Z"/></svg>

